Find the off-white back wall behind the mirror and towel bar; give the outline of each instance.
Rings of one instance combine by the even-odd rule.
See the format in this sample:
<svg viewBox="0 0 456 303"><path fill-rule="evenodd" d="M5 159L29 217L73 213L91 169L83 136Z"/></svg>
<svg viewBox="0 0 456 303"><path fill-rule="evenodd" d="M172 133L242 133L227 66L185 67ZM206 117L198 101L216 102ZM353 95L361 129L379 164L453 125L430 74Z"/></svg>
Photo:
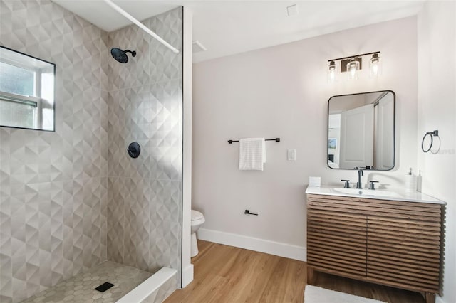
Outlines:
<svg viewBox="0 0 456 303"><path fill-rule="evenodd" d="M384 58L378 80L366 69L356 81L326 82L328 59L378 50ZM217 230L306 246L309 176L321 176L323 184L356 181L355 171L326 165L333 95L396 93L395 170L366 173L363 180L401 186L417 163L416 56L416 18L410 17L194 64L192 208L206 218L200 236ZM237 169L239 145L227 140L242 137L281 138L266 142L264 171ZM286 160L286 149L296 149L296 161ZM259 216L244 215L246 208Z"/></svg>

